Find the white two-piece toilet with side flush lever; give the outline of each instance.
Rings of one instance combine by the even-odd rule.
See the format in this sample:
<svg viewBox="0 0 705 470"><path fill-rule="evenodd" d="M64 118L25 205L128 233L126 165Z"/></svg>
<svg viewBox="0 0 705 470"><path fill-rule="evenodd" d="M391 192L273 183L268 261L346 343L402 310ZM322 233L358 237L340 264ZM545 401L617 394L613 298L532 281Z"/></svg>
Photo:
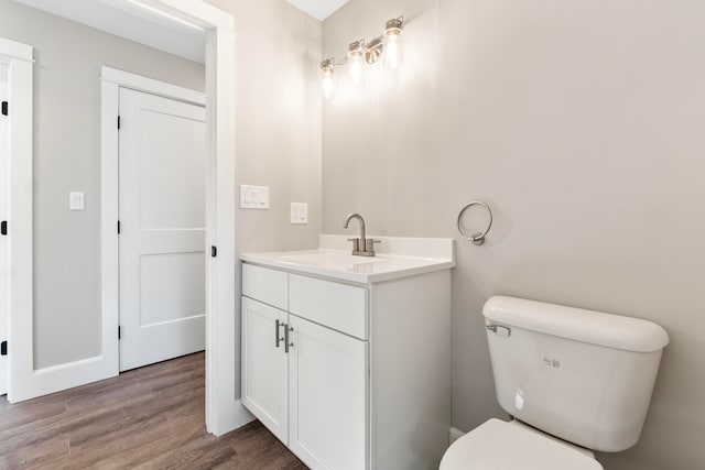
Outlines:
<svg viewBox="0 0 705 470"><path fill-rule="evenodd" d="M663 328L506 296L482 314L497 400L512 419L457 439L440 470L599 470L593 450L637 444L669 343Z"/></svg>

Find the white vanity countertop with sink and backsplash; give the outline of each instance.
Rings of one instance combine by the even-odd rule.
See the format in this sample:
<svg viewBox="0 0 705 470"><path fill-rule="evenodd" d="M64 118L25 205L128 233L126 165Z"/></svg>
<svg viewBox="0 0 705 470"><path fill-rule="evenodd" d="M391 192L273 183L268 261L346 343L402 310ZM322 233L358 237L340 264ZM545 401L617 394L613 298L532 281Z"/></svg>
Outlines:
<svg viewBox="0 0 705 470"><path fill-rule="evenodd" d="M373 237L376 256L350 254L348 236L321 236L316 250L243 253L248 263L354 283L376 283L455 266L452 239ZM350 245L350 247L348 247Z"/></svg>

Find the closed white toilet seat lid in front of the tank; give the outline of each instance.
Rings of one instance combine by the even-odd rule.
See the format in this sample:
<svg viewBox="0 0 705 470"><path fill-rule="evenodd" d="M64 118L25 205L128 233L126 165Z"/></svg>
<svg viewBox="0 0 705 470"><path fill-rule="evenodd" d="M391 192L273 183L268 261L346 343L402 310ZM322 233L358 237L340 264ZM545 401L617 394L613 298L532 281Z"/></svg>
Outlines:
<svg viewBox="0 0 705 470"><path fill-rule="evenodd" d="M501 419L489 419L453 442L438 470L603 470L568 444Z"/></svg>

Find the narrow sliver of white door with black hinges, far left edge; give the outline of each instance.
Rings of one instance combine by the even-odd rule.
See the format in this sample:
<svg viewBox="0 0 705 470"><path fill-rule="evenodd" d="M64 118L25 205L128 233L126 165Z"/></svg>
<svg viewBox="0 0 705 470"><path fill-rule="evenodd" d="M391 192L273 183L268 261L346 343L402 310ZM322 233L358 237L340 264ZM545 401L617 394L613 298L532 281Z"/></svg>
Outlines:
<svg viewBox="0 0 705 470"><path fill-rule="evenodd" d="M8 100L8 66L0 64L0 101ZM8 117L0 114L0 220L8 220ZM0 236L0 342L8 340L8 238ZM0 356L0 395L8 393L8 357Z"/></svg>

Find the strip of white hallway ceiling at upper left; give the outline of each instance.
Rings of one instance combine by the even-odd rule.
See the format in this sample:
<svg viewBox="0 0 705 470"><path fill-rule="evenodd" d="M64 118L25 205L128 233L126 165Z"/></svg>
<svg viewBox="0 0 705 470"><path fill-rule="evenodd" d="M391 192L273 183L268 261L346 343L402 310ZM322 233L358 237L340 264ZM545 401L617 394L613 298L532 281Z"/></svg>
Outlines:
<svg viewBox="0 0 705 470"><path fill-rule="evenodd" d="M191 61L205 62L205 33L151 12L139 1L115 0L15 0L98 30Z"/></svg>

